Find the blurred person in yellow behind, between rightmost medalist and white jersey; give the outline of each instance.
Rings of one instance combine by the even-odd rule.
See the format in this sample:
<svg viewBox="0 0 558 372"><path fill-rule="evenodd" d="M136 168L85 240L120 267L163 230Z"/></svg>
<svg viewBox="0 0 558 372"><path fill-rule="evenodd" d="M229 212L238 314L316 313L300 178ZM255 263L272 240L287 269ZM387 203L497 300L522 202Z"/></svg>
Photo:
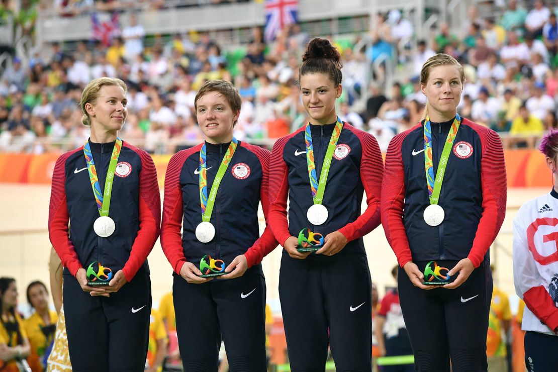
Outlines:
<svg viewBox="0 0 558 372"><path fill-rule="evenodd" d="M494 265L490 265L494 277ZM512 313L509 310L509 298L506 292L494 286L490 301L487 334L487 360L490 372L507 372L507 346ZM510 349L511 350L511 349Z"/></svg>

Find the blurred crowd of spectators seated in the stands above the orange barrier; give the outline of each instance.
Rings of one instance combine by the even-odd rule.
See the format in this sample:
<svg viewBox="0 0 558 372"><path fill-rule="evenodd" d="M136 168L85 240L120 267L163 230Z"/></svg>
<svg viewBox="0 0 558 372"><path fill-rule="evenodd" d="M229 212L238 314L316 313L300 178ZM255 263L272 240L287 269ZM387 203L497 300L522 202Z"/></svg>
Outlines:
<svg viewBox="0 0 558 372"><path fill-rule="evenodd" d="M41 4L22 5L29 7L21 12L33 22L33 7ZM418 73L436 52L465 65L460 113L501 132L504 146L532 147L556 128L558 23L542 1L527 11L512 0L499 18L479 18L472 7L460 32L441 23L429 40L413 40L415 26L399 11L379 13L375 22L368 35L372 49L353 50L367 35L334 39L344 59L342 119L373 133L383 151L396 133L419 122L426 98ZM238 138L281 137L305 122L295 81L308 38L300 25L290 25L275 41L265 42L256 27L251 42L224 51L209 33L148 36L132 16L109 46L55 43L37 50L28 63L15 56L0 80L0 151L42 153L59 151L60 143L65 148L83 143L88 131L79 121L79 92L99 76L126 82L130 115L125 136L152 153L175 152L201 138L193 102L196 89L208 79L232 80L238 87L243 98ZM366 65L382 55L408 70L397 74L407 78L386 86L379 69L367 84ZM359 99L364 89L367 102Z"/></svg>

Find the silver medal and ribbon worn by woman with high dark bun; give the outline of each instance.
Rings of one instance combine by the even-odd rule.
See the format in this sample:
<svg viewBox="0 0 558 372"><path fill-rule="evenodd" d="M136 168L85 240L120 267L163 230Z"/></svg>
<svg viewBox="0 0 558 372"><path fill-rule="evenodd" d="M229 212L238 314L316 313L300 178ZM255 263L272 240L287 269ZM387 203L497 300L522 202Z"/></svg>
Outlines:
<svg viewBox="0 0 558 372"><path fill-rule="evenodd" d="M328 209L321 203L324 201L325 185L328 182L329 168L331 167L331 158L335 152L337 141L343 129L343 122L337 118L337 123L331 133L328 143L328 150L325 153L324 164L321 168L320 179L316 175L316 165L314 163L314 146L312 146L312 132L310 131L310 123L306 124L304 138L306 143L306 163L308 165L308 176L310 177L310 189L312 190L312 205L306 212L306 218L312 225L321 225L328 219Z"/></svg>

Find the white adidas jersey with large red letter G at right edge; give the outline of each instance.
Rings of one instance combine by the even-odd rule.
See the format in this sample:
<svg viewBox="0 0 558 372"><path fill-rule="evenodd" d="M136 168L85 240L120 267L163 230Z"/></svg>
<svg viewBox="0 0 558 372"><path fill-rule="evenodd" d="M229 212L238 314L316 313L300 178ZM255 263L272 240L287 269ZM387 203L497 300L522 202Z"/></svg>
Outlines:
<svg viewBox="0 0 558 372"><path fill-rule="evenodd" d="M513 220L513 279L517 295L525 300L521 329L545 334L555 333L529 309L533 304L523 294L542 286L558 312L558 193L527 201Z"/></svg>

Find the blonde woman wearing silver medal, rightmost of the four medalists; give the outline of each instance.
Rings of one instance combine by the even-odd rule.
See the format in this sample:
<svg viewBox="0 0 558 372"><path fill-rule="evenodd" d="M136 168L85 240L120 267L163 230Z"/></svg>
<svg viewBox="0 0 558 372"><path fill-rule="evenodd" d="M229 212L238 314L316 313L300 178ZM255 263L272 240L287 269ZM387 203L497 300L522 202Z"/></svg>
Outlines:
<svg viewBox="0 0 558 372"><path fill-rule="evenodd" d="M424 117L389 144L382 225L400 265L401 309L417 371L487 371L490 244L506 212L496 132L460 117L465 75L453 57L422 66Z"/></svg>

